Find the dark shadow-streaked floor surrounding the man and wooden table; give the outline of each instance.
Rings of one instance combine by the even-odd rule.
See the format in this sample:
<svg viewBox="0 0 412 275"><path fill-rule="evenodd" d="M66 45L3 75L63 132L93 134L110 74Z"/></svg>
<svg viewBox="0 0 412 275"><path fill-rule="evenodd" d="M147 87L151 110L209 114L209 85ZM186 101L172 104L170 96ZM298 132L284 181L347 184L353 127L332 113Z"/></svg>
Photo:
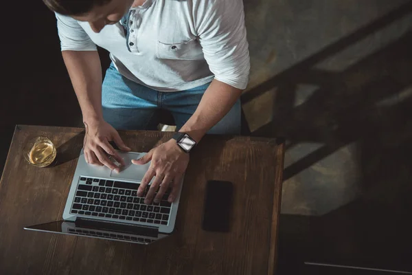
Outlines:
<svg viewBox="0 0 412 275"><path fill-rule="evenodd" d="M412 271L412 1L244 5L244 113L253 135L288 140L280 274L382 274L305 262ZM82 125L54 15L40 0L7 7L0 170L15 124Z"/></svg>

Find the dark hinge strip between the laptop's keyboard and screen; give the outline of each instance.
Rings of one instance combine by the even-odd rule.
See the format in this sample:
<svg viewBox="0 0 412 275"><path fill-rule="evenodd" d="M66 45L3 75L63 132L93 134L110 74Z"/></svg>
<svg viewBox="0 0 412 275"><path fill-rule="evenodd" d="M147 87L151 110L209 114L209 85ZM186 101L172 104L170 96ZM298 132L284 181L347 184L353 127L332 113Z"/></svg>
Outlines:
<svg viewBox="0 0 412 275"><path fill-rule="evenodd" d="M154 226L142 226L134 224L117 223L115 221L101 221L96 219L77 218L74 222L76 227L89 228L94 230L109 230L115 232L139 234L157 237L159 228Z"/></svg>

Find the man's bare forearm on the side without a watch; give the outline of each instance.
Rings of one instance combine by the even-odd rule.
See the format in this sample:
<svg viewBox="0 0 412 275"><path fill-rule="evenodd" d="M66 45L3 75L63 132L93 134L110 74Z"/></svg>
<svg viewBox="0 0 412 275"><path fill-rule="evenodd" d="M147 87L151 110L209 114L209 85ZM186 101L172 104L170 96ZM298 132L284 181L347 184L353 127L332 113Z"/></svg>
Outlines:
<svg viewBox="0 0 412 275"><path fill-rule="evenodd" d="M102 118L102 66L98 52L62 52L67 72L82 109L83 121Z"/></svg>

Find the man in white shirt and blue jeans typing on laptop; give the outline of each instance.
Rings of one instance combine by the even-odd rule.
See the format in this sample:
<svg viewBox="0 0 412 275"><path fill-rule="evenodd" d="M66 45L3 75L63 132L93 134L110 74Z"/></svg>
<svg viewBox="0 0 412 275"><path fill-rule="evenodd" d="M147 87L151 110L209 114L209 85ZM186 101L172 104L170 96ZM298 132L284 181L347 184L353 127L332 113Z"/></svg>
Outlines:
<svg viewBox="0 0 412 275"><path fill-rule="evenodd" d="M124 164L109 141L129 151L115 129L155 129L157 110L174 115L182 143L206 133L240 133L240 94L249 78L242 0L43 0L56 12L62 56L82 109L89 164ZM96 45L113 63L102 83ZM185 140L183 140L185 139ZM172 139L133 164L153 177L145 203L161 200L189 162L190 146ZM107 154L107 155L106 155ZM155 192L157 195L155 196Z"/></svg>

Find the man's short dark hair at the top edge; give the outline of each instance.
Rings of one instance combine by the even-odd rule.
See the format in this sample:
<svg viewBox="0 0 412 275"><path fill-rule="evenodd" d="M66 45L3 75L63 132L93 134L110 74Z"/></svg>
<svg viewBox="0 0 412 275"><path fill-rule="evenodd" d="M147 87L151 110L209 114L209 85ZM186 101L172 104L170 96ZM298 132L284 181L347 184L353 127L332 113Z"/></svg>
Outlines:
<svg viewBox="0 0 412 275"><path fill-rule="evenodd" d="M95 5L104 5L111 0L43 0L53 12L62 15L80 15L90 12Z"/></svg>

